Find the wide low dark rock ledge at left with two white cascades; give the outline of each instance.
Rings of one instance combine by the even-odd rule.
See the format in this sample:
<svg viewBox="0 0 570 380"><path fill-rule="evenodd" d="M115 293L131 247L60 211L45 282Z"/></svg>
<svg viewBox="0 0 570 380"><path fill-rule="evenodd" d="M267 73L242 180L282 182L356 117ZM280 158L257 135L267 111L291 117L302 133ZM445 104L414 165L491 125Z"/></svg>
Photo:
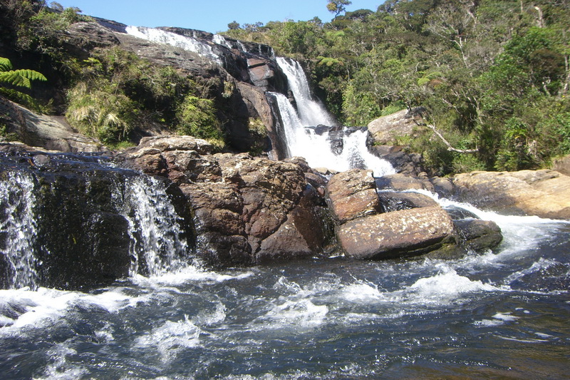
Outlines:
<svg viewBox="0 0 570 380"><path fill-rule="evenodd" d="M185 266L182 218L164 183L104 164L51 160L61 160L61 172L0 166L0 288L73 287L84 274L97 282ZM61 282L70 263L71 282Z"/></svg>

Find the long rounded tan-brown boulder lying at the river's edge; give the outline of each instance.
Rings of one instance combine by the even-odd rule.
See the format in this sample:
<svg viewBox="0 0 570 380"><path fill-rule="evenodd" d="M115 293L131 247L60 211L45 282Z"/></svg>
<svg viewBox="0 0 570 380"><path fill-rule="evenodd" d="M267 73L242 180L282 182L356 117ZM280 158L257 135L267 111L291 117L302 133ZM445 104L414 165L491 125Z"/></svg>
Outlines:
<svg viewBox="0 0 570 380"><path fill-rule="evenodd" d="M337 229L348 257L390 259L440 249L452 240L453 222L441 207L420 207L360 217Z"/></svg>

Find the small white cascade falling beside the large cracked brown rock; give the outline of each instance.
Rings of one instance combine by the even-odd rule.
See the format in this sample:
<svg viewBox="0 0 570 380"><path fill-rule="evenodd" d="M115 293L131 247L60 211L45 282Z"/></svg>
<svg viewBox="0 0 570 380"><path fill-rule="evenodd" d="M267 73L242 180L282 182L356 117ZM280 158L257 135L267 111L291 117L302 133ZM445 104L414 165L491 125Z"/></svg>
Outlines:
<svg viewBox="0 0 570 380"><path fill-rule="evenodd" d="M123 216L129 222L130 274L157 275L182 267L187 250L180 218L168 199L165 186L155 178L138 176L126 184Z"/></svg>

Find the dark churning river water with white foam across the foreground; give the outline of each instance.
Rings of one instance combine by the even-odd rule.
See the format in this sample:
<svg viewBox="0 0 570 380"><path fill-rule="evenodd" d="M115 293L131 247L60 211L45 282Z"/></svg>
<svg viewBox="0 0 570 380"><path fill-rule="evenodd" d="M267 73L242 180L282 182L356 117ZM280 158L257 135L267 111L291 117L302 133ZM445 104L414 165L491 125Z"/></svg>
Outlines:
<svg viewBox="0 0 570 380"><path fill-rule="evenodd" d="M462 206L502 227L498 253L218 272L189 265L88 293L0 290L0 373L568 378L570 224Z"/></svg>

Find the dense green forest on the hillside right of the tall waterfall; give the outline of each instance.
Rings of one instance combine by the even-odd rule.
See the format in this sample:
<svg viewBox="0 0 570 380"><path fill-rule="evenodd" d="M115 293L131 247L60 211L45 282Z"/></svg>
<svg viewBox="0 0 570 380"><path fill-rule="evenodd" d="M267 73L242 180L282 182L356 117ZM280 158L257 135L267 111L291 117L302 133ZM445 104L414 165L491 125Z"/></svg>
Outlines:
<svg viewBox="0 0 570 380"><path fill-rule="evenodd" d="M328 1L330 23L233 23L225 34L301 61L347 125L425 108L426 125L460 150L418 126L410 150L440 175L570 153L568 1L388 0L341 16L346 3Z"/></svg>

